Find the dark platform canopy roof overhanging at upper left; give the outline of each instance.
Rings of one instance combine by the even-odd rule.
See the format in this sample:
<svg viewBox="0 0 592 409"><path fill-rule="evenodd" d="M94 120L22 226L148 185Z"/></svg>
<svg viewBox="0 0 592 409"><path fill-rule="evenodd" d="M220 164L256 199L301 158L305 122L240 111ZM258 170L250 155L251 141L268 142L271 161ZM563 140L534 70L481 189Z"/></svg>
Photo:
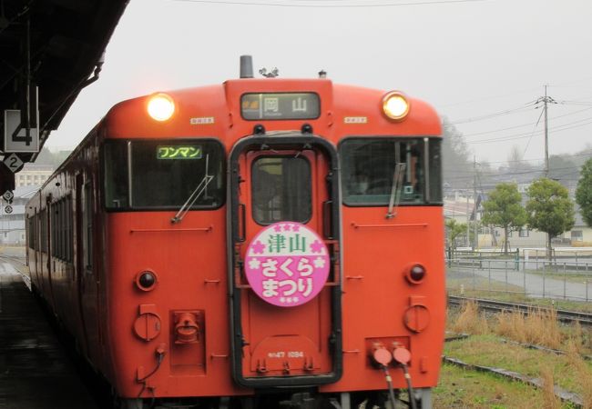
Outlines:
<svg viewBox="0 0 592 409"><path fill-rule="evenodd" d="M4 159L18 150L5 144L5 110L28 113L21 115L22 125L38 127L41 149L80 90L100 71L103 52L126 5L128 0L0 0L0 151ZM22 162L36 158L35 152L15 155ZM14 177L9 183L12 171L2 167L0 195L6 186L14 185Z"/></svg>

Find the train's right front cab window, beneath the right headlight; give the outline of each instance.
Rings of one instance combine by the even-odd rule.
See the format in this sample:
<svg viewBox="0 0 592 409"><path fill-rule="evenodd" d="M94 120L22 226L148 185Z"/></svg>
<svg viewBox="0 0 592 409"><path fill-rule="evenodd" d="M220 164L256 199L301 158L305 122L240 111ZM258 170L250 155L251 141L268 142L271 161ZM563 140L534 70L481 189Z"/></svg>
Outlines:
<svg viewBox="0 0 592 409"><path fill-rule="evenodd" d="M342 142L345 205L442 201L439 138L349 138Z"/></svg>

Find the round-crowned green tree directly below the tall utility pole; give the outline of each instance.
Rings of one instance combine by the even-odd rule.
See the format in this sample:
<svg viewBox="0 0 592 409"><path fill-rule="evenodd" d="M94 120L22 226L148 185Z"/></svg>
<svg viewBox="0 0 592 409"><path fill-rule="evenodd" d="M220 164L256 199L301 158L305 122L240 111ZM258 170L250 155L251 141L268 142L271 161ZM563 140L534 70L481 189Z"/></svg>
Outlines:
<svg viewBox="0 0 592 409"><path fill-rule="evenodd" d="M567 230L575 223L574 203L567 189L551 179L538 179L528 188L528 226L546 232L546 254L552 254L551 239Z"/></svg>

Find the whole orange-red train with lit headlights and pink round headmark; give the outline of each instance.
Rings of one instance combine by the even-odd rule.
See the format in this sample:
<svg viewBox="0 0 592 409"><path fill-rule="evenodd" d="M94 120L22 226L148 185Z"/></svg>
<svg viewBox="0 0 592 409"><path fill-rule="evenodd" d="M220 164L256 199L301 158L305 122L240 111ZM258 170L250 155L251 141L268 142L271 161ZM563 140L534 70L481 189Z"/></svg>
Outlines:
<svg viewBox="0 0 592 409"><path fill-rule="evenodd" d="M431 407L438 115L241 62L111 108L27 205L34 291L122 407Z"/></svg>

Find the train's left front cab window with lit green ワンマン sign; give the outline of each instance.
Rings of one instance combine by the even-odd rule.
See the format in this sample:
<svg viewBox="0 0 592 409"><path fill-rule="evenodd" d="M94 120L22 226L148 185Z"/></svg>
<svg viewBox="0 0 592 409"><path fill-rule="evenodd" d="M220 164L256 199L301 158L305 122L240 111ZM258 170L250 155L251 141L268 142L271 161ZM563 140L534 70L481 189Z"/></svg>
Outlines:
<svg viewBox="0 0 592 409"><path fill-rule="evenodd" d="M112 142L104 161L107 209L179 209L195 195L191 209L223 204L224 155L216 141Z"/></svg>

